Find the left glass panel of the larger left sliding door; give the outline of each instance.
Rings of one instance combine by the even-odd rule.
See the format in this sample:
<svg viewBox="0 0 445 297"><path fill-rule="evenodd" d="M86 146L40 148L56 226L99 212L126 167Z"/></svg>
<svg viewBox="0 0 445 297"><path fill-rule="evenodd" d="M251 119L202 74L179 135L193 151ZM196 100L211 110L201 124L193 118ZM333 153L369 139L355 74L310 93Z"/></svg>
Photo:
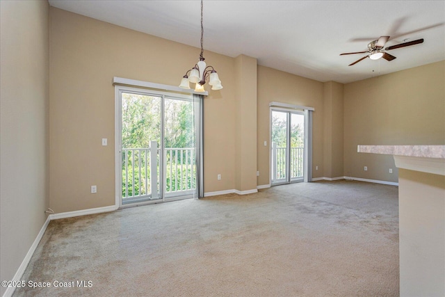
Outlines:
<svg viewBox="0 0 445 297"><path fill-rule="evenodd" d="M161 122L163 98L145 93L120 93L122 204L161 199Z"/></svg>

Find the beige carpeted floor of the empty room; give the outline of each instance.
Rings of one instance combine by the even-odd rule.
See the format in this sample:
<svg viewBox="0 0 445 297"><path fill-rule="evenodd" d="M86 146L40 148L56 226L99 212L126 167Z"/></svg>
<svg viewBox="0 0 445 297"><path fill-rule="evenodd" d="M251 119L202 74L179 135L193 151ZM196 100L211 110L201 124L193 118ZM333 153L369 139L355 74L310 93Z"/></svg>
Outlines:
<svg viewBox="0 0 445 297"><path fill-rule="evenodd" d="M22 280L50 287L14 296L398 296L398 188L300 183L54 220Z"/></svg>

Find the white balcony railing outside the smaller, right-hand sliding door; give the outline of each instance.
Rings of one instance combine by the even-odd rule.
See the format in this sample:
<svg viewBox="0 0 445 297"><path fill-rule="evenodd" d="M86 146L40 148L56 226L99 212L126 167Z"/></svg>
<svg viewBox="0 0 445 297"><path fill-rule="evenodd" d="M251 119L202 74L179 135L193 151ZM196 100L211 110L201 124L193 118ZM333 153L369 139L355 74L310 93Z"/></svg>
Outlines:
<svg viewBox="0 0 445 297"><path fill-rule="evenodd" d="M287 179L286 150L286 147L277 147L276 143L272 143L272 182L284 182ZM291 180L303 177L303 152L304 147L291 147Z"/></svg>

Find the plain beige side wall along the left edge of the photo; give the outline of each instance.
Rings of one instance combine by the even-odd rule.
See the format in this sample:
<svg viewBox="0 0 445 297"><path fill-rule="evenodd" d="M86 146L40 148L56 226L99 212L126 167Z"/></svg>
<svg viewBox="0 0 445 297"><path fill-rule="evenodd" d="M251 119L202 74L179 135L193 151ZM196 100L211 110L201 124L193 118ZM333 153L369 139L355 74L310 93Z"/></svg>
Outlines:
<svg viewBox="0 0 445 297"><path fill-rule="evenodd" d="M49 205L48 10L47 1L0 1L1 280L13 279Z"/></svg>

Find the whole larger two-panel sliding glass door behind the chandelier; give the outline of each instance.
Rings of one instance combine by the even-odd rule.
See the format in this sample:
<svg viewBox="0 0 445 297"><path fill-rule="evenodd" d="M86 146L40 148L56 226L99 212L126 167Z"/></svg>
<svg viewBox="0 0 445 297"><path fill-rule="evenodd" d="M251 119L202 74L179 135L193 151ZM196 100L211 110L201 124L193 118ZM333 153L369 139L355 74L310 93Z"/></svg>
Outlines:
<svg viewBox="0 0 445 297"><path fill-rule="evenodd" d="M117 87L120 206L197 197L201 98Z"/></svg>

